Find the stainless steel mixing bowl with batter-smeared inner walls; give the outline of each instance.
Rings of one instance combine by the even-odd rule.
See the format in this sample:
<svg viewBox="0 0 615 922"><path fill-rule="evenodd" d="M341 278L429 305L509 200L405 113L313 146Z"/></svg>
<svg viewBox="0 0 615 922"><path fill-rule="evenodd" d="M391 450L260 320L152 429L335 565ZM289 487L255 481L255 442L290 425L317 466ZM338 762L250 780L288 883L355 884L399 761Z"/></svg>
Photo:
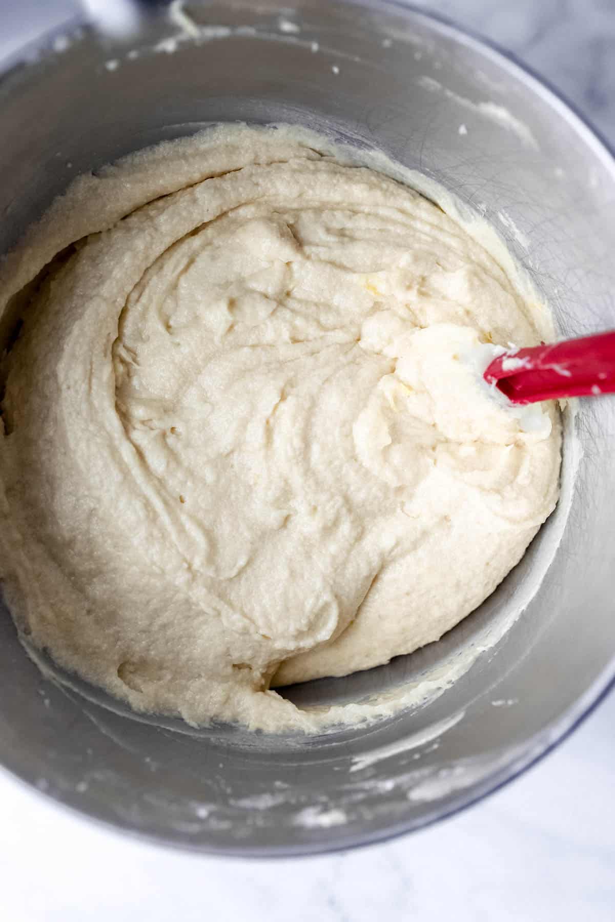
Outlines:
<svg viewBox="0 0 615 922"><path fill-rule="evenodd" d="M90 24L6 65L0 252L80 172L212 121L283 121L381 148L455 190L500 229L562 334L615 326L613 160L501 53L393 3L295 0L282 18L268 0L189 3L188 20L177 5L134 11L130 36ZM1 761L92 818L233 855L373 842L458 810L547 751L613 678L614 433L614 400L582 404L558 510L442 641L289 692L348 701L478 655L423 706L319 738L191 731L43 679L3 610Z"/></svg>

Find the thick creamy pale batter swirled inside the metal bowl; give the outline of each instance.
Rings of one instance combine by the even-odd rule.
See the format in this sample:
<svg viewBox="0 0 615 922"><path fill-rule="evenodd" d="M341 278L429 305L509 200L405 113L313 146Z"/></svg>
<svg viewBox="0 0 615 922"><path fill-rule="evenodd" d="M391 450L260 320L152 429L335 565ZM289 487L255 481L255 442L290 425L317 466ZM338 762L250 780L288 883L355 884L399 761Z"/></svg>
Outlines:
<svg viewBox="0 0 615 922"><path fill-rule="evenodd" d="M527 425L475 367L544 313L326 150L245 126L152 148L0 269L6 595L137 710L321 726L270 688L437 640L557 500L554 408Z"/></svg>

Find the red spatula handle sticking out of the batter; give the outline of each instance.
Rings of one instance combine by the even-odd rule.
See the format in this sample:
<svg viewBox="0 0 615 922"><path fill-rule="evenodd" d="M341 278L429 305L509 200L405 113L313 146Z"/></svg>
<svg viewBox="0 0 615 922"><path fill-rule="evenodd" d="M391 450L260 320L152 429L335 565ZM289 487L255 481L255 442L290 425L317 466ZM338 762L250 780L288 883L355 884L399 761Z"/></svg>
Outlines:
<svg viewBox="0 0 615 922"><path fill-rule="evenodd" d="M506 353L485 372L513 403L615 393L615 330Z"/></svg>

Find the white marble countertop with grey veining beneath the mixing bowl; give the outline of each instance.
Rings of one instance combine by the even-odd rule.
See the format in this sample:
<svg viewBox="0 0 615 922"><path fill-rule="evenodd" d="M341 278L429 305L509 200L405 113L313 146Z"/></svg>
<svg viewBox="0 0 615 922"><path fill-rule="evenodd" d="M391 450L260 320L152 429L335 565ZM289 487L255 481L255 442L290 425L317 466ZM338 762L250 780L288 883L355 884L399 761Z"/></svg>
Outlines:
<svg viewBox="0 0 615 922"><path fill-rule="evenodd" d="M0 5L0 53L19 23L21 36L33 37L25 10L40 3ZM75 4L56 3L59 23ZM615 141L611 0L434 0L424 6L512 50ZM195 857L144 845L0 774L0 918L611 922L614 766L611 693L550 756L455 818L385 845L281 862Z"/></svg>

